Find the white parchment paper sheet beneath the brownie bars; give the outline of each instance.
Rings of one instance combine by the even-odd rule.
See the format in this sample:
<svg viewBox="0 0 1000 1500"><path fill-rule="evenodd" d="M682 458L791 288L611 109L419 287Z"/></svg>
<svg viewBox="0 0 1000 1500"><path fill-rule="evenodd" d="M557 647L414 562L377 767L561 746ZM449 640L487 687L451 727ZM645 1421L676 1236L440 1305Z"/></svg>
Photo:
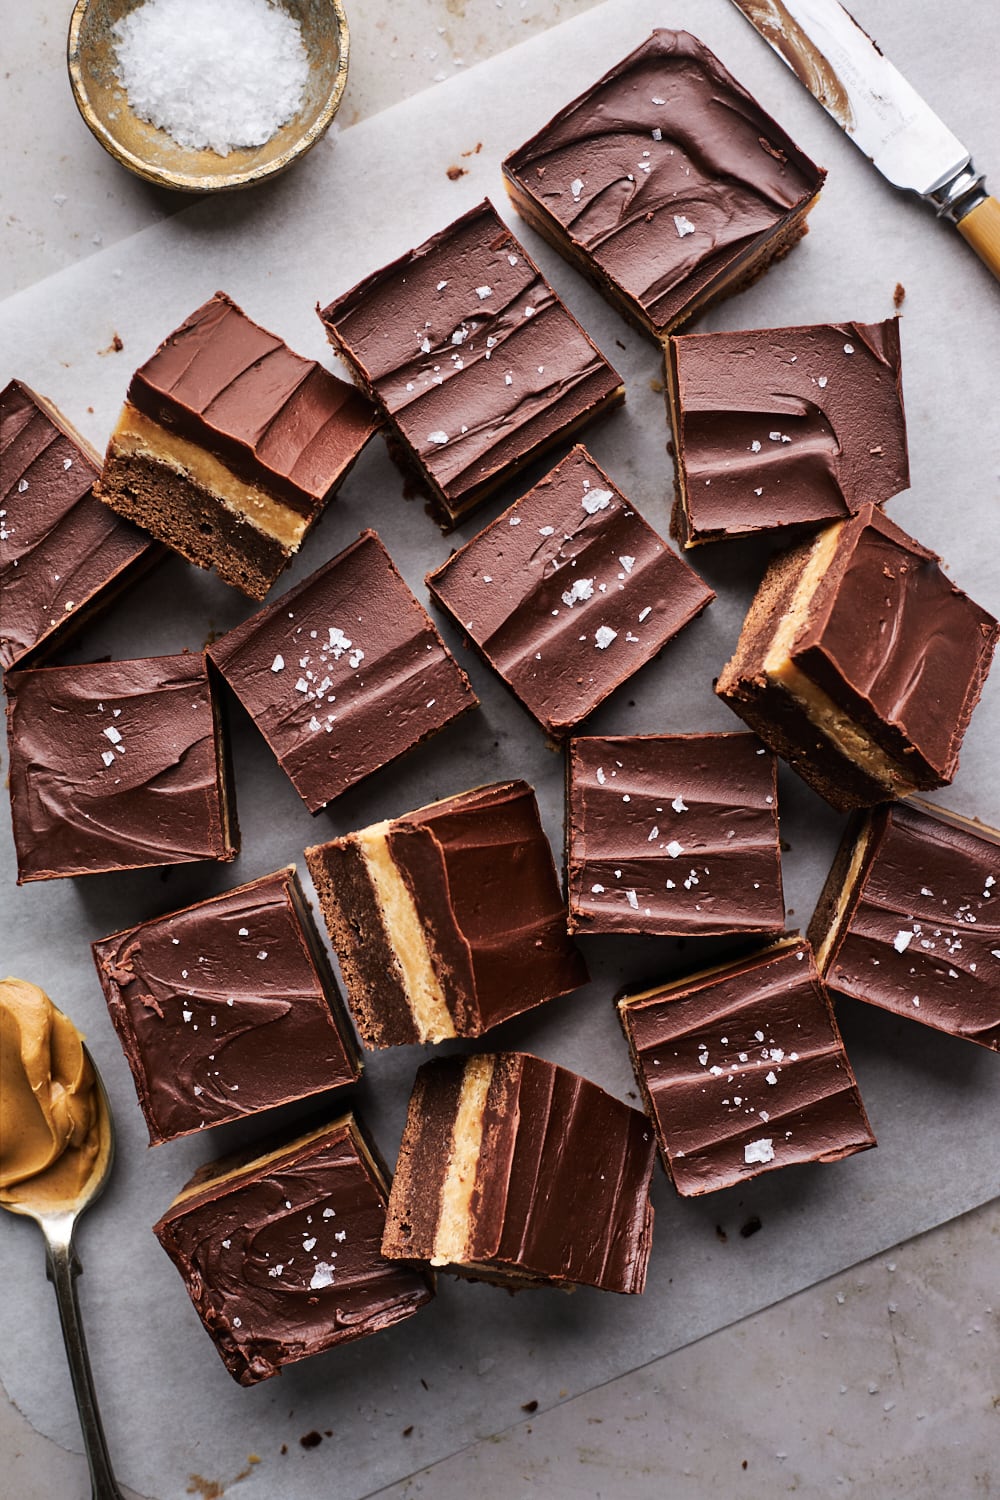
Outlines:
<svg viewBox="0 0 1000 1500"><path fill-rule="evenodd" d="M996 156L997 102L988 88L942 80L940 36L910 24L903 0L861 20L879 28L894 60L925 86L958 134ZM979 33L976 57L1000 42L1000 18L955 0L949 24ZM934 21L937 26L937 21ZM891 502L895 520L936 548L978 602L1000 610L997 474L1000 472L1000 288L928 212L892 194L805 96L726 0L609 0L576 21L484 63L322 142L265 192L199 204L94 255L0 306L6 374L51 396L103 447L130 370L216 288L301 352L333 363L316 302L444 226L489 194L537 255L559 292L625 375L625 410L586 441L595 458L666 532L672 471L660 358L510 208L499 174L519 146L652 26L700 34L736 76L829 168L811 232L757 286L723 304L702 327L768 327L838 318L877 320L903 303L904 393L913 488ZM916 33L916 34L915 34ZM985 66L982 69L985 82ZM982 156L993 148L994 159ZM450 166L465 168L451 180ZM117 333L120 354L102 352ZM4 376L6 378L6 376ZM508 496L510 498L510 496ZM471 536L499 510L477 513ZM333 555L358 530L378 528L409 584L451 542L420 501L406 501L381 440L279 591ZM696 566L718 602L661 658L594 716L594 732L738 728L712 694L760 576L766 548L700 549ZM199 648L250 606L214 579L171 560L73 648L73 658ZM180 867L55 880L15 890L10 822L0 813L0 969L42 984L87 1032L112 1096L118 1162L106 1198L79 1233L84 1317L109 1446L124 1482L175 1500L190 1476L229 1485L246 1500L360 1497L522 1416L552 1406L694 1340L855 1260L984 1202L1000 1190L1000 1059L918 1024L861 1006L841 1022L879 1149L831 1167L774 1173L744 1190L681 1202L657 1173L657 1226L648 1292L625 1299L577 1292L507 1293L441 1281L438 1300L409 1323L288 1370L253 1390L225 1372L181 1282L150 1234L189 1173L207 1156L259 1138L261 1119L210 1137L145 1148L130 1077L106 1017L88 944L133 921L297 861L301 849L484 780L526 776L538 789L556 850L562 838L562 765L532 720L492 674L442 633L468 668L481 712L340 798L318 819L304 812L264 741L232 712L243 855L231 867ZM1000 675L987 686L945 806L1000 824L996 746ZM4 765L6 770L6 765ZM805 924L840 836L841 819L792 774L781 777L789 843L790 926ZM634 1098L612 998L624 982L697 963L718 945L672 940L586 944L594 982L502 1028L496 1046L525 1047ZM355 1104L394 1160L417 1048L369 1054L363 1084L330 1113ZM295 1112L285 1112L283 1122ZM753 1238L741 1226L757 1215ZM724 1232L723 1236L717 1227ZM42 1246L31 1226L0 1224L0 1378L43 1432L78 1448ZM298 1438L330 1434L316 1449ZM282 1449L286 1452L282 1452Z"/></svg>

